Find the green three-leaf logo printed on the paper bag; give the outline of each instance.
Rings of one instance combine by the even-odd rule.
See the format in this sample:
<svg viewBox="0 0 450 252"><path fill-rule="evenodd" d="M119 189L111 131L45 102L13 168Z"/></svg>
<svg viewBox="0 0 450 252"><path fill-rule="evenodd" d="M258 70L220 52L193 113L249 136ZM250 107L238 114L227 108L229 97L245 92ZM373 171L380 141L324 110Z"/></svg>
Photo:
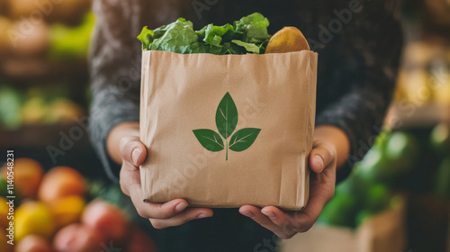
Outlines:
<svg viewBox="0 0 450 252"><path fill-rule="evenodd" d="M257 128L245 128L236 131L231 136L237 125L238 108L236 108L231 95L227 92L220 101L216 111L216 126L220 134L208 129L193 130L193 134L202 144L202 147L209 151L217 152L225 148L225 160L228 160L228 149L238 152L250 148L257 139L259 131L261 131L261 129ZM230 136L231 139L229 139ZM225 145L222 138L225 139Z"/></svg>

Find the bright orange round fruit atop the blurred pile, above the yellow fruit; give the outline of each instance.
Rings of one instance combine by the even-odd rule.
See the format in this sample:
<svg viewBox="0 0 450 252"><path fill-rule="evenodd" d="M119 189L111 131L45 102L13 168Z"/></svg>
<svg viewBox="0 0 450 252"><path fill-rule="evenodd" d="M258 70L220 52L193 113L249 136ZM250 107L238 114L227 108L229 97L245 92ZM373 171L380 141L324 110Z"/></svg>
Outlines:
<svg viewBox="0 0 450 252"><path fill-rule="evenodd" d="M85 194L85 178L76 169L58 166L44 175L38 197L43 202L55 202L71 195Z"/></svg>

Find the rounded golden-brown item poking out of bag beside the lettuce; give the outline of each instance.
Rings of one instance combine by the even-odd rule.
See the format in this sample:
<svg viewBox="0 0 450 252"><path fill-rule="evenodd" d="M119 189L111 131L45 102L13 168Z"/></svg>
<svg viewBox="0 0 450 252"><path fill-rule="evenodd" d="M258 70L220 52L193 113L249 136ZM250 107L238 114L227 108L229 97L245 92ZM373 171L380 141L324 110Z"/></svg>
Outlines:
<svg viewBox="0 0 450 252"><path fill-rule="evenodd" d="M310 45L303 36L302 31L293 27L286 26L277 31L266 46L266 53L280 53L310 49Z"/></svg>

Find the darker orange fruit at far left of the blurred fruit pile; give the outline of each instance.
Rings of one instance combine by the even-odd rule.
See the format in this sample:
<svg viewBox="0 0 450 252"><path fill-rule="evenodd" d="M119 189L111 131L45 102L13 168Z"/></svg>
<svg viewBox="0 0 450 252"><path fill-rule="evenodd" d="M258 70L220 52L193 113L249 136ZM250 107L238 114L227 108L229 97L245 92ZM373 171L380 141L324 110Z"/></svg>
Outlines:
<svg viewBox="0 0 450 252"><path fill-rule="evenodd" d="M7 179L8 173L11 172L7 164L2 167L4 179ZM13 172L14 189L24 198L35 198L44 174L44 168L40 166L40 163L28 157L15 158Z"/></svg>

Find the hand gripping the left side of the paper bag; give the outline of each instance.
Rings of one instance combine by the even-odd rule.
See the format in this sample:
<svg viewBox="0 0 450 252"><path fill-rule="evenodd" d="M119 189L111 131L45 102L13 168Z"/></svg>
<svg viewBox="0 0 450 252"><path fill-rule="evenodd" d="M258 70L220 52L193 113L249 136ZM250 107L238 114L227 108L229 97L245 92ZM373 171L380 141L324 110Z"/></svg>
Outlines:
<svg viewBox="0 0 450 252"><path fill-rule="evenodd" d="M175 199L166 203L143 202L139 166L147 158L147 148L139 140L139 127L131 126L130 128L130 125L121 124L114 128L111 134L117 135L108 139L108 146L112 145L111 141L117 139L117 136L126 135L120 137L118 144L122 160L121 191L130 196L139 215L148 219L155 229L165 229L182 225L189 220L211 217L211 209L188 208L189 204L184 199Z"/></svg>

